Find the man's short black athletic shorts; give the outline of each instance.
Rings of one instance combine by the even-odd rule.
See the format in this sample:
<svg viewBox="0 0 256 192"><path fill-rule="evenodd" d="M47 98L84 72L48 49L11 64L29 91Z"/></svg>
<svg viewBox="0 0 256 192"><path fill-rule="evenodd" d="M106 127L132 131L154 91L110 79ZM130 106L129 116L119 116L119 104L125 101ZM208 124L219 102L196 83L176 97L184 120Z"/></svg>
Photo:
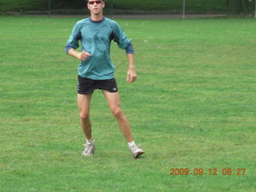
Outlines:
<svg viewBox="0 0 256 192"><path fill-rule="evenodd" d="M110 93L118 92L115 78L107 80L93 80L78 75L78 94L93 94L94 90L107 90Z"/></svg>

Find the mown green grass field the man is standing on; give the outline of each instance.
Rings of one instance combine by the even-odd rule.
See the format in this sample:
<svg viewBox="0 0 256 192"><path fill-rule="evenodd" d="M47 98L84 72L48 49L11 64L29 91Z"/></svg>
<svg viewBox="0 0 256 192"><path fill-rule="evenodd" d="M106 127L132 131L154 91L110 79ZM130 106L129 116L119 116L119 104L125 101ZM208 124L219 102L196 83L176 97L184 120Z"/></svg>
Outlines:
<svg viewBox="0 0 256 192"><path fill-rule="evenodd" d="M0 17L0 191L256 190L255 19L118 20L136 50L128 84L125 52L111 47L139 159L99 90L97 150L81 155L78 60L64 52L79 19Z"/></svg>

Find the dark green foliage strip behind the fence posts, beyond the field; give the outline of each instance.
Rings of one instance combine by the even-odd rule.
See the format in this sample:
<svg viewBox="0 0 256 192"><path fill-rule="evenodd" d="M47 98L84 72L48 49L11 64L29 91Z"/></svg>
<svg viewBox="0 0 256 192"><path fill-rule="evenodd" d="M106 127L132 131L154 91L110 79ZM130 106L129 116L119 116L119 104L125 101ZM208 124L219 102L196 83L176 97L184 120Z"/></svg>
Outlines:
<svg viewBox="0 0 256 192"><path fill-rule="evenodd" d="M50 0L53 10L78 9L86 7L86 0ZM106 0L106 8L110 8L111 0ZM115 9L181 12L182 0L114 0ZM228 6L227 5L228 2ZM1 10L48 10L49 0L0 0ZM189 0L186 1L186 11L190 13L234 12L247 13L254 10L254 0Z"/></svg>

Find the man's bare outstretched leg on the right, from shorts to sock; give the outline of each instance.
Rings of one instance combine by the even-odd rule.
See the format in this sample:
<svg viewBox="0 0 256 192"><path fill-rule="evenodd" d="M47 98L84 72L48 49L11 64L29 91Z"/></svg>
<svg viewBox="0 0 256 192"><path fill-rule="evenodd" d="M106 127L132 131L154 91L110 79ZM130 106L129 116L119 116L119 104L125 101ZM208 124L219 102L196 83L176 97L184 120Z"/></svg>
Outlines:
<svg viewBox="0 0 256 192"><path fill-rule="evenodd" d="M122 113L121 102L118 92L110 93L106 90L103 90L106 101L110 106L110 110L114 115L114 118L118 121L119 129L122 131L122 134L125 136L127 142L132 142L133 137L130 130L129 122L126 118L126 115Z"/></svg>

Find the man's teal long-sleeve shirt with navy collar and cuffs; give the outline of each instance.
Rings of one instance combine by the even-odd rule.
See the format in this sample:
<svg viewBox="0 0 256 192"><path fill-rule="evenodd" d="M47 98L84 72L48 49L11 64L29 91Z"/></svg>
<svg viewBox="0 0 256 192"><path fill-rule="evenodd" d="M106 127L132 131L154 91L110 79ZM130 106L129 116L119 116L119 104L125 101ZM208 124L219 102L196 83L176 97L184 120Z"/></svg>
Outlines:
<svg viewBox="0 0 256 192"><path fill-rule="evenodd" d="M114 64L110 59L110 43L113 39L121 49L126 49L127 54L134 54L131 40L126 37L118 23L110 18L103 18L98 22L85 18L75 24L66 42L66 53L71 48L78 49L81 42L82 51L91 54L78 66L78 74L82 78L94 80L114 78Z"/></svg>

